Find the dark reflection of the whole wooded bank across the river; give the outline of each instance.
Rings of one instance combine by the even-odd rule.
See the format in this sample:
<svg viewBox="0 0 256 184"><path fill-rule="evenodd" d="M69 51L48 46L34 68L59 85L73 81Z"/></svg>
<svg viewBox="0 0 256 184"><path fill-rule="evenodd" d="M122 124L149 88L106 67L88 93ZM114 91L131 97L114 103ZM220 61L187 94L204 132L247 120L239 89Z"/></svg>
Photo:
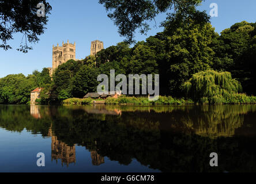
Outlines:
<svg viewBox="0 0 256 184"><path fill-rule="evenodd" d="M111 108L106 106L107 110ZM252 146L256 143L256 125L244 126L246 120L247 125L255 119L255 106L159 106L141 110L125 106L118 116L88 113L77 107L41 106L42 118L37 120L29 110L27 106L0 106L0 127L12 131L26 128L47 136L52 123L56 150L61 150L61 143L71 148L82 145L92 151L96 165L107 156L126 165L135 158L164 172L256 171L256 148ZM248 129L254 130L252 137L244 136ZM209 167L210 152L219 154L219 167Z"/></svg>

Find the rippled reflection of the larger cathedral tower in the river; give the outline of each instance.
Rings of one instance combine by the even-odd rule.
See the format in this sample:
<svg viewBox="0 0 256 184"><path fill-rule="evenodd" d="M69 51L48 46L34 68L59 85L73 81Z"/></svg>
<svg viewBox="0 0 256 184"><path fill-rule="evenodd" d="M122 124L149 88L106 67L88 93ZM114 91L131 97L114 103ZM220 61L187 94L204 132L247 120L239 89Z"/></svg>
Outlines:
<svg viewBox="0 0 256 184"><path fill-rule="evenodd" d="M69 166L70 163L76 163L76 147L69 146L57 139L57 136L52 135L51 128L49 129L48 136L51 136L51 159L61 159L61 163Z"/></svg>

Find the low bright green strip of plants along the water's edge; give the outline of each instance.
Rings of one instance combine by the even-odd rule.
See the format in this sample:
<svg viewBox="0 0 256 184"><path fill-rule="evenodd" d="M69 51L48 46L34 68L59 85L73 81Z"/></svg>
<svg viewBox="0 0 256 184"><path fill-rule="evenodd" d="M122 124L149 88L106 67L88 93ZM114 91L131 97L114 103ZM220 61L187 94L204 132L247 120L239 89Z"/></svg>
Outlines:
<svg viewBox="0 0 256 184"><path fill-rule="evenodd" d="M64 106L82 106L93 105L93 101L105 101L105 105L141 105L141 106L153 106L153 105L245 105L256 104L256 97L247 96L246 94L234 94L229 99L220 99L219 103L210 104L207 98L204 98L203 103L194 102L192 99L185 98L172 98L166 96L159 96L157 101L149 101L147 97L126 97L121 96L119 98L108 97L106 100L93 99L93 98L68 98L62 102Z"/></svg>

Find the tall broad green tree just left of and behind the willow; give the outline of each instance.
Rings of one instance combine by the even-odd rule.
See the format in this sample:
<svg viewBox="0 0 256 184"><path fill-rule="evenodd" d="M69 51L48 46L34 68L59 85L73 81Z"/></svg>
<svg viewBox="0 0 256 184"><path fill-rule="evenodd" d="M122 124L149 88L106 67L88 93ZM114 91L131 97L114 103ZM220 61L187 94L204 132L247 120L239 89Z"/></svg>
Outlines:
<svg viewBox="0 0 256 184"><path fill-rule="evenodd" d="M205 71L212 66L213 50L209 47L212 42L214 28L209 23L204 25L191 24L181 26L174 32L168 30L166 62L168 67L169 83L167 84L172 95L181 95L180 87L191 76L199 71Z"/></svg>

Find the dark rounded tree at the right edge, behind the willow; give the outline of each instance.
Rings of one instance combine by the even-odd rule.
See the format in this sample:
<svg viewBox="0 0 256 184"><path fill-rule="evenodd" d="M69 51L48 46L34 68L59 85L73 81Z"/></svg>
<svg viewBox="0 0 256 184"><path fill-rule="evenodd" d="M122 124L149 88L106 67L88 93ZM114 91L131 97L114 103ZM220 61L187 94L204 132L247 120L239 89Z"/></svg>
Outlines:
<svg viewBox="0 0 256 184"><path fill-rule="evenodd" d="M256 24L242 21L213 37L213 69L229 71L247 94L256 94L255 35Z"/></svg>

